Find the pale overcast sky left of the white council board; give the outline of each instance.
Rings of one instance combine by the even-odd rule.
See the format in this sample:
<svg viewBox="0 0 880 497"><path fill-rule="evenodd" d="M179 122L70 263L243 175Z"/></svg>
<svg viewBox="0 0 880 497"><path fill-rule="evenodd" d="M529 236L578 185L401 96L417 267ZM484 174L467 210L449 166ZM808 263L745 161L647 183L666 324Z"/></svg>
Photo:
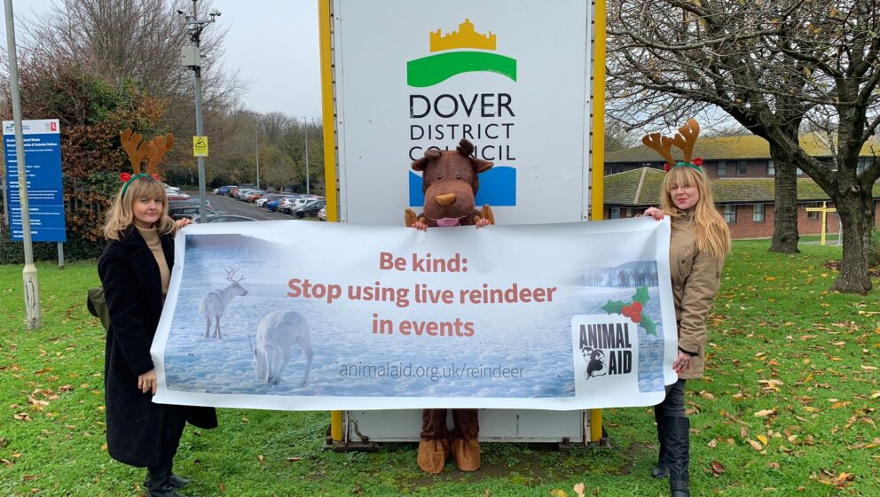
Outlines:
<svg viewBox="0 0 880 497"><path fill-rule="evenodd" d="M37 19L52 0L12 0L18 19ZM242 104L267 113L321 115L318 53L318 2L315 0L214 0L222 15L216 27L228 27L224 67L238 70L248 89ZM184 29L183 21L180 28ZM214 26L208 27L213 29ZM16 32L22 27L16 23ZM6 24L0 23L6 47Z"/></svg>

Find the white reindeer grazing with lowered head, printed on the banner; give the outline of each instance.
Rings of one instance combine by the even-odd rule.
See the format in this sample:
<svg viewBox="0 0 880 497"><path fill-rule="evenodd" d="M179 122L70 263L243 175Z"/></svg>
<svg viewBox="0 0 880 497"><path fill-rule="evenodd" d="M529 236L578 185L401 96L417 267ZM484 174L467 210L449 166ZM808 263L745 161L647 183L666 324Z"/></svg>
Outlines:
<svg viewBox="0 0 880 497"><path fill-rule="evenodd" d="M300 346L305 353L305 374L301 386L309 384L311 358L311 338L309 325L305 318L294 311L275 311L264 315L256 330L254 349L254 370L256 379L271 384L279 384L287 362L290 362L290 349Z"/></svg>

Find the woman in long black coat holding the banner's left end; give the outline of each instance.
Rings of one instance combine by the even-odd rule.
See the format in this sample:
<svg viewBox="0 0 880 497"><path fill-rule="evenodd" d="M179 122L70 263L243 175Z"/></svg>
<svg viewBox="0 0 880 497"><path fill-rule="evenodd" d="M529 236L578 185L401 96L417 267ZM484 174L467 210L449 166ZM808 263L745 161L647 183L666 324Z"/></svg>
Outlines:
<svg viewBox="0 0 880 497"><path fill-rule="evenodd" d="M150 346L174 267L176 228L162 183L135 175L107 214L109 243L98 261L110 312L104 364L107 450L119 462L146 467L145 486L157 497L180 496L177 488L187 481L171 471L185 423L217 425L214 408L153 403Z"/></svg>

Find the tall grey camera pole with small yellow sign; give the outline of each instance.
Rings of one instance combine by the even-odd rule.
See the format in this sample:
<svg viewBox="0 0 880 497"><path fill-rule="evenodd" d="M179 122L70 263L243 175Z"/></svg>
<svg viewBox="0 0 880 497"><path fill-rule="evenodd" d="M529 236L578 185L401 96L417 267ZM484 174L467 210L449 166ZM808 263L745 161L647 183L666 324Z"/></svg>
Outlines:
<svg viewBox="0 0 880 497"><path fill-rule="evenodd" d="M186 34L189 35L189 46L181 50L181 60L185 67L193 69L195 75L195 134L193 136L193 155L199 160L199 221L207 221L205 214L205 158L208 157L208 136L204 136L204 125L201 116L201 53L199 50L199 38L201 31L220 17L220 11L214 9L208 13L208 19L199 19L199 0L193 0L193 13L185 15L184 11L177 11L185 15Z"/></svg>

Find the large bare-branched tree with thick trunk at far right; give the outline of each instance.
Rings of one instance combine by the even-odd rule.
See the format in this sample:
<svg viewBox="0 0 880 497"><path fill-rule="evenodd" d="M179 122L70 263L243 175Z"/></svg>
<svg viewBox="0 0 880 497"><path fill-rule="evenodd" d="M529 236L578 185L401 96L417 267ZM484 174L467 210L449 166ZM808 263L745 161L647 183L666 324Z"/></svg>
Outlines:
<svg viewBox="0 0 880 497"><path fill-rule="evenodd" d="M866 293L880 160L861 172L858 161L880 125L878 31L876 1L615 0L609 78L629 99L633 121L680 120L712 105L764 137L776 163L777 195L797 190L793 180L782 181L794 169L810 175L844 227L832 289ZM836 128L837 170L800 146L805 120Z"/></svg>

